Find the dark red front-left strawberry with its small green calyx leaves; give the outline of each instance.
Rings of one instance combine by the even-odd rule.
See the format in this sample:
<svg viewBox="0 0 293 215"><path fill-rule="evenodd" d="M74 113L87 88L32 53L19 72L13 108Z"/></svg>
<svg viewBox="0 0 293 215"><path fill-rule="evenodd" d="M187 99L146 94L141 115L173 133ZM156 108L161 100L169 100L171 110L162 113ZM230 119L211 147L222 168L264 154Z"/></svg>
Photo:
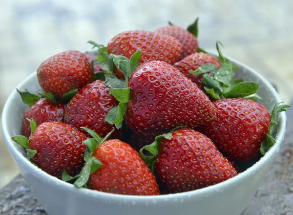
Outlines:
<svg viewBox="0 0 293 215"><path fill-rule="evenodd" d="M70 175L81 171L86 148L83 133L62 122L46 122L37 127L34 120L29 121L32 131L29 139L24 136L12 139L27 149L28 158L34 164L58 178L64 170Z"/></svg>

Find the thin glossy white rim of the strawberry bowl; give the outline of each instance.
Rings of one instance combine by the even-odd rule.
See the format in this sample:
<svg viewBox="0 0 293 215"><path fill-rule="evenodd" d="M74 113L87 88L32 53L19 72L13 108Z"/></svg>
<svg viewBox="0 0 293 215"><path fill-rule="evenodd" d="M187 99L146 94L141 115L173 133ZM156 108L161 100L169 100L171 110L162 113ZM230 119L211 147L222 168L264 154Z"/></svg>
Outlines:
<svg viewBox="0 0 293 215"><path fill-rule="evenodd" d="M215 52L210 51L209 53L215 54ZM225 56L226 57L226 56ZM276 98L277 102L281 102L281 98L279 97L279 94L276 92L275 88L271 85L269 81L267 81L264 77L262 77L259 73L257 73L254 69L251 67L242 64L238 62L237 60L234 60L230 57L227 57L231 63L240 65L244 69L249 70L253 75L255 75L258 79L262 80L264 84L270 88L270 90L273 92L274 97ZM22 81L17 88L23 88L30 79L32 79L34 76L36 76L36 71L30 74L24 81ZM10 153L13 155L13 157L18 158L18 162L21 162L21 165L27 168L29 172L34 172L36 177L39 178L46 178L46 181L51 181L50 183L54 184L55 186L58 186L62 189L66 189L68 192L74 192L79 193L80 195L89 195L90 197L96 197L96 198L104 198L104 199L111 199L114 201L135 201L135 202L146 202L149 200L152 201L166 201L166 197L168 199L173 199L176 201L177 198L185 198L188 197L200 197L203 194L210 194L215 191L224 190L228 186L237 186L239 181L245 180L247 175L254 174L258 170L262 169L263 166L266 165L266 163L273 158L273 156L278 152L279 146L281 145L285 130L286 130L286 114L285 112L281 112L279 114L279 132L276 136L276 143L270 148L270 150L255 164L253 164L250 168L248 168L244 172L240 172L233 178L230 178L226 181L223 181L221 183L211 185L209 187L201 188L198 190L188 191L188 192L182 192L182 193L176 193L176 194L161 194L161 195L125 195L125 194L111 194L111 193L105 193L100 192L96 190L90 190L85 188L76 188L74 185L64 182L44 171L42 171L40 168L33 165L25 156L22 155L21 151L17 150L17 148L14 146L14 141L11 139L10 132L8 131L6 122L9 119L8 112L9 112L9 106L12 105L12 100L16 97L17 91L13 90L12 93L9 95L8 99L5 102L5 105L2 110L2 119L1 119L1 126L2 126L2 132L3 132L3 138L4 142L9 149Z"/></svg>

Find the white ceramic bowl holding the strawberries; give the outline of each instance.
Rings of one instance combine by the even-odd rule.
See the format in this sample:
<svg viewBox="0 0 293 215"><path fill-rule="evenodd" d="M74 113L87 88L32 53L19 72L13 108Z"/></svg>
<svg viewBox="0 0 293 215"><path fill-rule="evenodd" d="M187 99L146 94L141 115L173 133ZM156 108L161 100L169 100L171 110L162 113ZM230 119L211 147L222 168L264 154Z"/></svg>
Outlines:
<svg viewBox="0 0 293 215"><path fill-rule="evenodd" d="M266 108L281 102L272 85L246 65L239 65L236 78L260 83L258 94ZM36 72L18 87L31 92L40 91ZM31 191L49 215L239 215L250 203L261 180L269 171L273 158L284 138L286 115L278 117L275 145L251 168L222 183L207 188L159 196L108 194L88 189L77 189L31 164L25 151L11 137L21 134L23 112L27 108L16 90L9 96L2 112L5 143Z"/></svg>

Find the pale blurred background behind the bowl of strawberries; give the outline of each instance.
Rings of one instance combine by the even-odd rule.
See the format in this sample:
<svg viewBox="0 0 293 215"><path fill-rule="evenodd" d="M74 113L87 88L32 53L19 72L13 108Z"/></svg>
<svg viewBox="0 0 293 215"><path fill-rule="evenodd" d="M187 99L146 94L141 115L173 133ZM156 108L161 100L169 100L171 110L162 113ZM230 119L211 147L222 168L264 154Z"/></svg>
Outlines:
<svg viewBox="0 0 293 215"><path fill-rule="evenodd" d="M199 21L200 47L254 68L293 96L292 0L0 0L0 109L10 92L48 57L107 44L126 30ZM18 174L0 136L0 187Z"/></svg>

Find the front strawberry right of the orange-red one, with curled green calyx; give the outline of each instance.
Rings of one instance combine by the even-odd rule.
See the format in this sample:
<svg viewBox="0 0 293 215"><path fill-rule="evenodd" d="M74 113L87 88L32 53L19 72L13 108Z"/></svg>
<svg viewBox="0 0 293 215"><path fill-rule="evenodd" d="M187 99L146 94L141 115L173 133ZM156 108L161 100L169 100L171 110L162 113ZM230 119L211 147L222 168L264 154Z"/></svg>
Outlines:
<svg viewBox="0 0 293 215"><path fill-rule="evenodd" d="M153 156L146 157L144 149ZM188 128L157 136L140 154L169 193L207 187L237 174L207 136Z"/></svg>

